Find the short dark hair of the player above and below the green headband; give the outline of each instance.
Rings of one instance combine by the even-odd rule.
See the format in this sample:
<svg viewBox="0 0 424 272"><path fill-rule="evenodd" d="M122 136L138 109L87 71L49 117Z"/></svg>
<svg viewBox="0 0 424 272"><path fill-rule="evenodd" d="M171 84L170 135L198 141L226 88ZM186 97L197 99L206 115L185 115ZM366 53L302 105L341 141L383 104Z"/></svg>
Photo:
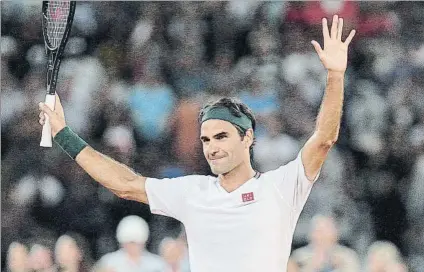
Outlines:
<svg viewBox="0 0 424 272"><path fill-rule="evenodd" d="M231 97L223 97L220 98L214 102L208 103L205 106L203 106L203 108L200 110L200 114L199 114L199 123L202 122L202 118L203 115L205 115L205 113L211 109L211 108L219 108L219 107L225 107L227 109L230 110L230 112L236 116L236 117L240 117L242 114L246 115L247 118L250 119L250 121L252 122L252 129L253 131L255 131L256 128L256 118L255 115L253 114L252 110L243 102L241 102L240 100L238 100L237 98L231 98ZM239 135L241 138L243 138L244 136L246 136L246 129L234 125L232 124L238 131ZM249 153L250 153L250 162L253 164L253 146L256 143L256 139L253 138L253 143L252 145L250 145L249 148Z"/></svg>

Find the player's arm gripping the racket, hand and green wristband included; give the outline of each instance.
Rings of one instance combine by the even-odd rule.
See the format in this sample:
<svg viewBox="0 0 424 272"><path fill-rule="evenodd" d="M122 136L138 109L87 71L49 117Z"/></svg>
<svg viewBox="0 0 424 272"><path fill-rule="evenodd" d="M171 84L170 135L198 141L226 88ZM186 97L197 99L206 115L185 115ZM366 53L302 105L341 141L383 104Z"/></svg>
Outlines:
<svg viewBox="0 0 424 272"><path fill-rule="evenodd" d="M46 121L45 114L49 118L52 128L52 136L55 141L60 136L69 139L63 142L65 151L97 182L111 190L118 197L148 203L145 183L146 178L138 175L127 166L97 152L85 145L76 134L66 127L65 116L59 96L56 94L54 111L44 103L39 104L41 110L40 124ZM59 135L58 135L59 133Z"/></svg>

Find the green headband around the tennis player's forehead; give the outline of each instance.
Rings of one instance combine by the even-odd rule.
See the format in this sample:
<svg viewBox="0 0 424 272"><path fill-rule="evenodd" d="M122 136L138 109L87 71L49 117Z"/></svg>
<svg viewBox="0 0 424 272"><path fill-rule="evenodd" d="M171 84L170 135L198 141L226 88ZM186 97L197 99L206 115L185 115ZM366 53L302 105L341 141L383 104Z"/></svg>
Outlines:
<svg viewBox="0 0 424 272"><path fill-rule="evenodd" d="M247 117L246 114L241 112L241 116L234 116L227 107L212 107L207 110L203 117L201 123L210 120L210 119L219 119L223 121L230 122L233 125L239 126L244 130L252 128L252 121Z"/></svg>

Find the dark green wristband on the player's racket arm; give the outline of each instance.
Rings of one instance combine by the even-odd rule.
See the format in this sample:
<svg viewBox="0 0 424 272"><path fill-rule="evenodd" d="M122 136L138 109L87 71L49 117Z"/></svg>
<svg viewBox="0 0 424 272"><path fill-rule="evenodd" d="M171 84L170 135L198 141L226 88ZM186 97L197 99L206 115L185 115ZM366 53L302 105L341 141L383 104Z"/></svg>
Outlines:
<svg viewBox="0 0 424 272"><path fill-rule="evenodd" d="M68 126L59 131L53 140L68 154L73 160L88 144L81 139Z"/></svg>

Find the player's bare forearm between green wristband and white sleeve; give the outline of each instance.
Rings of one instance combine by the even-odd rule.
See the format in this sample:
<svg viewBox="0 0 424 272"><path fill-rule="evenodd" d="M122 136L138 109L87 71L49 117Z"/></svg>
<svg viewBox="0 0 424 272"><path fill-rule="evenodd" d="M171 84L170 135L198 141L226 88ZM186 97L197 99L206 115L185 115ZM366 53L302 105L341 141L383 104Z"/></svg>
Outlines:
<svg viewBox="0 0 424 272"><path fill-rule="evenodd" d="M85 147L75 161L94 180L117 196L145 202L143 195L146 178L139 176L124 164L97 152L90 146Z"/></svg>

